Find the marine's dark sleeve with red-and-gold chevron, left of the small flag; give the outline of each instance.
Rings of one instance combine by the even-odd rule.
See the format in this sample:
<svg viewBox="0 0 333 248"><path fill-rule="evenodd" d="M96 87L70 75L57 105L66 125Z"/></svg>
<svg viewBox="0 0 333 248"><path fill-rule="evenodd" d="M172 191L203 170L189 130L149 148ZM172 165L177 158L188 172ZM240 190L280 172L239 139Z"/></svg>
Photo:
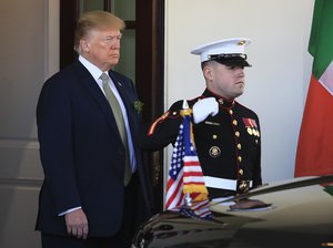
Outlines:
<svg viewBox="0 0 333 248"><path fill-rule="evenodd" d="M183 120L180 114L181 107L182 101L174 103L162 116L144 127L141 138L142 149L154 152L174 144Z"/></svg>

